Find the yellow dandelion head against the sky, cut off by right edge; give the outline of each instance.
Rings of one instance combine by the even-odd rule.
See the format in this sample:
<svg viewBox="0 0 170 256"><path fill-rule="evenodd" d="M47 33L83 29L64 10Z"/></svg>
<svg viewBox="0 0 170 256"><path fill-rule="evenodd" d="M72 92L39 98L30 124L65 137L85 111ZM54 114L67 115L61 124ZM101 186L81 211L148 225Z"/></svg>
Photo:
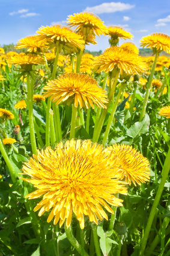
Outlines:
<svg viewBox="0 0 170 256"><path fill-rule="evenodd" d="M166 53L170 53L170 37L167 34L154 33L151 36L142 37L141 46L155 48L159 52L166 51Z"/></svg>

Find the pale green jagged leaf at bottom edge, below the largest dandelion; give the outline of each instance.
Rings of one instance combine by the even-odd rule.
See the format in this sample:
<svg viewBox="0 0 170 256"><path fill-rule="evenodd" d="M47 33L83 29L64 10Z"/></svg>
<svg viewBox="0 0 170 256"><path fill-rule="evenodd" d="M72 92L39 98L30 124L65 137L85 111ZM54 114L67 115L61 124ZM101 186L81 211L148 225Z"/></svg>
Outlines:
<svg viewBox="0 0 170 256"><path fill-rule="evenodd" d="M104 232L102 226L97 227L97 235L99 235L100 237L100 240L99 240L100 248L104 256L107 256L109 254L109 251L111 251L112 243L118 245L117 242L109 238L112 235L112 233L113 231Z"/></svg>

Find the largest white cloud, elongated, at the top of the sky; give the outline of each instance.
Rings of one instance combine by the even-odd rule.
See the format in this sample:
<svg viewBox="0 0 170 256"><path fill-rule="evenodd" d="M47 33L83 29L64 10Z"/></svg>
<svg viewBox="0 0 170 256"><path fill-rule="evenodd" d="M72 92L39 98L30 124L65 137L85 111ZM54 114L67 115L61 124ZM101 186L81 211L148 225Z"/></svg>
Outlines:
<svg viewBox="0 0 170 256"><path fill-rule="evenodd" d="M84 11L91 13L115 13L116 11L129 10L135 7L135 5L124 4L123 2L103 2L103 4L96 5L94 7L87 7Z"/></svg>

